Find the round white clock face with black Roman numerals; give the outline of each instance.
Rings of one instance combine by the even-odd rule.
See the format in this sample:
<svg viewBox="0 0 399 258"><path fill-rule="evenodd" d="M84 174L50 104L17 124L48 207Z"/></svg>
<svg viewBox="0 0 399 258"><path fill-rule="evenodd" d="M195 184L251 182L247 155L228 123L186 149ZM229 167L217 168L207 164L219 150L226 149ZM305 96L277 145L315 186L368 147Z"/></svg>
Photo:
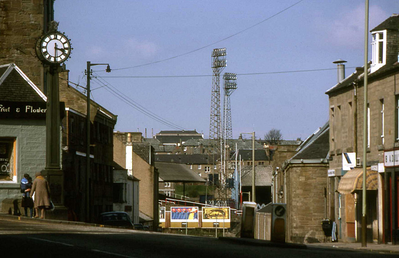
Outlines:
<svg viewBox="0 0 399 258"><path fill-rule="evenodd" d="M51 64L61 64L71 54L71 42L59 32L46 34L38 45L40 59Z"/></svg>

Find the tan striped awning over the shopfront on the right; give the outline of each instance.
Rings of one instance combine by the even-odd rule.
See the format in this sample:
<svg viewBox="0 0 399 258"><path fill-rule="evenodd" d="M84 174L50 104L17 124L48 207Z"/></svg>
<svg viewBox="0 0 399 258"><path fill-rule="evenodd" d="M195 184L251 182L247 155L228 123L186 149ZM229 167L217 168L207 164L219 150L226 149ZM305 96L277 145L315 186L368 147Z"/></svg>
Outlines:
<svg viewBox="0 0 399 258"><path fill-rule="evenodd" d="M342 194L352 193L355 190L363 189L363 168L351 169L341 177L338 185L338 192ZM370 167L366 170L366 190L378 189L378 172L371 171Z"/></svg>

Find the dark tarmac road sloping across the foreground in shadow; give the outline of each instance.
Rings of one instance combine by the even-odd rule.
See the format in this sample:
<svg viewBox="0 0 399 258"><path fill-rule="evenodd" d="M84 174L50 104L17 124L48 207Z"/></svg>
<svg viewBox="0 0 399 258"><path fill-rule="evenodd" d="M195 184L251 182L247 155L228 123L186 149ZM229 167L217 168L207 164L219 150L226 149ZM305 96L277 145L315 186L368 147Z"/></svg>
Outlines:
<svg viewBox="0 0 399 258"><path fill-rule="evenodd" d="M393 257L390 254L324 250L306 246L263 246L217 238L76 226L42 224L45 220L0 220L0 257Z"/></svg>

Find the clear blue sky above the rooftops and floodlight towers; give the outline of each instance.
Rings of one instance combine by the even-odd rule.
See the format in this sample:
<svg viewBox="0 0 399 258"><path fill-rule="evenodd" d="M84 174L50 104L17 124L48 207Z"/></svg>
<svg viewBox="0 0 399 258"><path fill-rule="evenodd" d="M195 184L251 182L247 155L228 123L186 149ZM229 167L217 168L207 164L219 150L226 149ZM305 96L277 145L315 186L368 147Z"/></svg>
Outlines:
<svg viewBox="0 0 399 258"><path fill-rule="evenodd" d="M144 135L147 129L151 137L152 130L184 128L209 135L211 52L226 48L221 75L238 74L231 95L233 137L254 130L263 139L276 128L289 140L306 139L328 120L324 92L337 82L332 62L341 58L346 67L356 67L364 58L364 0L303 0L292 6L297 2L68 0L55 1L54 16L72 42L66 62L71 82L86 85L87 61L114 69L105 73L105 66L93 66L98 77L91 89L92 99L118 115L115 130ZM370 0L369 5L369 30L399 13L397 0ZM122 69L133 66L138 67ZM311 69L331 70L270 73ZM347 68L346 75L353 71ZM181 77L188 75L209 76ZM127 76L135 77L120 78Z"/></svg>

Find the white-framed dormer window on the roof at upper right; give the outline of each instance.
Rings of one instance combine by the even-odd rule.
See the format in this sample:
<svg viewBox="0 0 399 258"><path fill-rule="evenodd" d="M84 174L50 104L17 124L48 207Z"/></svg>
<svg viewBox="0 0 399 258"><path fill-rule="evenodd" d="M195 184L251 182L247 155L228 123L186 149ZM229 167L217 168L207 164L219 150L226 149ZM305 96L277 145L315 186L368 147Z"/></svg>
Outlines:
<svg viewBox="0 0 399 258"><path fill-rule="evenodd" d="M372 32L373 46L372 60L371 60L371 72L377 71L380 67L386 63L386 49L387 49L387 31L376 31Z"/></svg>

